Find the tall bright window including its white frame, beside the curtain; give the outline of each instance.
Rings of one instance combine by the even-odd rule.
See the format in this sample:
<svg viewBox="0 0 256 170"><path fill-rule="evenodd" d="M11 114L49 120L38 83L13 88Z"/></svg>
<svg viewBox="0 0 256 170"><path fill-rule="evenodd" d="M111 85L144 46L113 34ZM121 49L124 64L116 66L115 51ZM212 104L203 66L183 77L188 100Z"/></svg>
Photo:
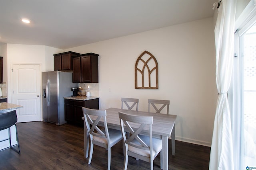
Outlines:
<svg viewBox="0 0 256 170"><path fill-rule="evenodd" d="M248 9L248 8L247 8ZM256 10L247 11L235 34L234 76L229 97L235 167L256 169Z"/></svg>

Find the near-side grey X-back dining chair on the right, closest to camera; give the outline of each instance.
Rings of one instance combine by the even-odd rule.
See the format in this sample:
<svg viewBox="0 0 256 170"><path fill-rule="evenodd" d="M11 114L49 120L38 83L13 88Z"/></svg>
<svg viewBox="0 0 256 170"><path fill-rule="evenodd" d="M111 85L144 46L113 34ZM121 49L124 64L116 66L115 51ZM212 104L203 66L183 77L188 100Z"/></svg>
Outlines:
<svg viewBox="0 0 256 170"><path fill-rule="evenodd" d="M152 116L128 115L119 112L120 126L125 145L124 170L127 169L128 157L132 156L150 162L150 169L153 170L153 160L162 150L162 140L152 137ZM136 127L133 128L132 126ZM143 135L139 135L143 129ZM131 133L129 138L126 138L126 131Z"/></svg>

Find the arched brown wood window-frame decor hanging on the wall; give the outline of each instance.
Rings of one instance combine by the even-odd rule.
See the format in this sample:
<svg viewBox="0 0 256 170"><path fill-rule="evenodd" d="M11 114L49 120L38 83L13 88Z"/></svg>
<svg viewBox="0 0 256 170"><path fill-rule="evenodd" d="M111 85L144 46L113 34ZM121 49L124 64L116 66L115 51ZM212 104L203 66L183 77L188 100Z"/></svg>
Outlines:
<svg viewBox="0 0 256 170"><path fill-rule="evenodd" d="M158 63L148 51L144 51L136 61L135 88L158 89Z"/></svg>

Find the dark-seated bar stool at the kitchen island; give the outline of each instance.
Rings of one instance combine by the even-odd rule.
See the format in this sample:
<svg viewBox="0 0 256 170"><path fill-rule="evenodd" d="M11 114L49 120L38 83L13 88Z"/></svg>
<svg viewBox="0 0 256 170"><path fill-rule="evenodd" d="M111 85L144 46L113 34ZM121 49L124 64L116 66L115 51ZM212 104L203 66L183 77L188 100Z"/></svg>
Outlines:
<svg viewBox="0 0 256 170"><path fill-rule="evenodd" d="M6 113L0 113L0 131L4 130L4 129L9 129L9 137L8 139L4 139L2 141L7 141L9 140L10 143L10 148L13 149L14 151L16 151L18 154L20 154L20 143L19 143L19 138L18 138L18 130L17 130L17 126L16 126L16 122L17 122L17 115L16 115L16 110L13 111L9 111ZM15 126L16 128L16 140L18 142L18 144L16 145L12 145L12 139L11 139L11 127ZM0 142L2 142L0 141ZM14 146L18 145L18 150L14 148ZM9 148L9 147L7 147ZM4 148L4 149L7 149ZM4 150L1 149L1 150Z"/></svg>

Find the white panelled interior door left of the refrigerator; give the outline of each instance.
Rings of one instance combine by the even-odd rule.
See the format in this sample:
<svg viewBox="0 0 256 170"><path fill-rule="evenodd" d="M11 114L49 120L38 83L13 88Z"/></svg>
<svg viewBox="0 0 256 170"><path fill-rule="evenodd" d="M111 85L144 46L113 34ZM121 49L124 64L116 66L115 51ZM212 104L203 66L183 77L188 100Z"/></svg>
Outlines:
<svg viewBox="0 0 256 170"><path fill-rule="evenodd" d="M18 122L41 121L40 65L12 65L12 103L17 109Z"/></svg>

